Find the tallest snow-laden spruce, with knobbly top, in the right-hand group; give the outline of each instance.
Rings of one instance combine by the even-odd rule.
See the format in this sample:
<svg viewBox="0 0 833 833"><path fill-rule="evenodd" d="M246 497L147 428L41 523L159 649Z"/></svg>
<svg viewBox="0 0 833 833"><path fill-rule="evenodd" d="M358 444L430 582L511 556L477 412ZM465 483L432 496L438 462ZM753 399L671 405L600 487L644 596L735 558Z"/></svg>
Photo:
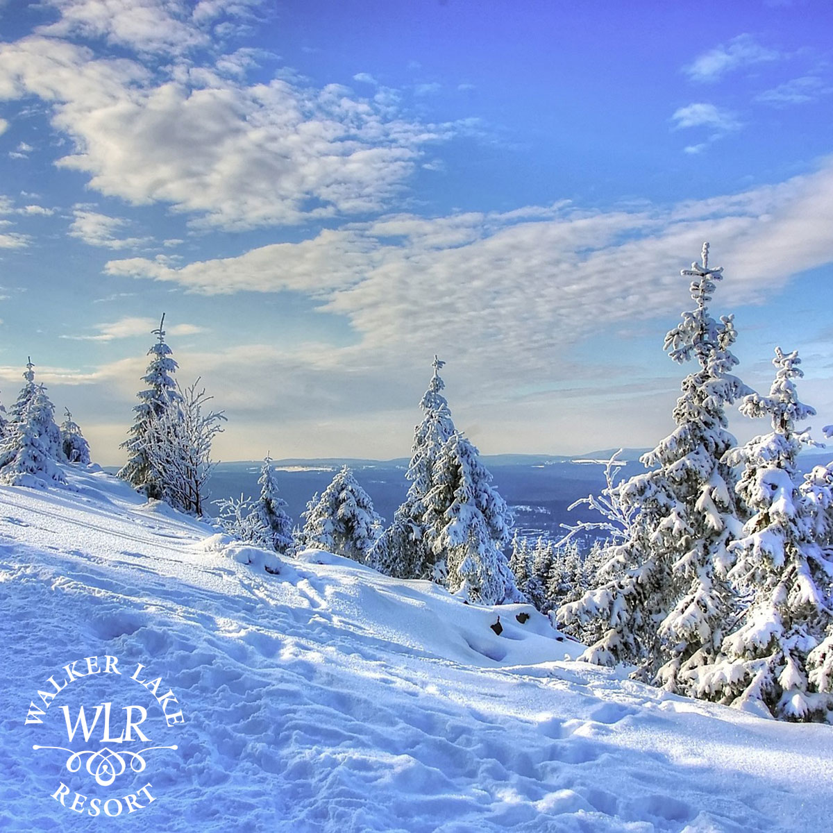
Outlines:
<svg viewBox="0 0 833 833"><path fill-rule="evenodd" d="M666 335L675 362L696 360L673 411L676 429L641 458L652 469L618 487L625 511L635 510L625 541L611 548L599 584L558 611L566 626L593 643L582 655L603 665L630 662L638 676L669 691L686 691L681 673L711 661L731 621L726 581L728 546L741 533L735 477L723 460L736 445L726 430L726 405L750 393L731 370L736 331L731 316L708 310L722 269L702 262L692 277L696 308Z"/></svg>

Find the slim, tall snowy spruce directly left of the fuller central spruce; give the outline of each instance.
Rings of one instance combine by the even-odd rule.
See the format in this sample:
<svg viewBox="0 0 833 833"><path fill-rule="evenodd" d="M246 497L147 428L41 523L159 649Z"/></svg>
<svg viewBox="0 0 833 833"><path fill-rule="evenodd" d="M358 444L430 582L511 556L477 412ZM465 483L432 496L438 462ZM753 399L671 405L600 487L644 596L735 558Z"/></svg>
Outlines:
<svg viewBox="0 0 833 833"><path fill-rule="evenodd" d="M411 462L406 477L410 481L407 496L394 513L393 521L379 537L368 562L377 570L397 578L432 578L434 576L435 541L426 529L423 516L426 496L434 486L434 462L448 438L454 433L451 411L442 390L442 362L434 357L434 375L420 407L422 421L414 429Z"/></svg>

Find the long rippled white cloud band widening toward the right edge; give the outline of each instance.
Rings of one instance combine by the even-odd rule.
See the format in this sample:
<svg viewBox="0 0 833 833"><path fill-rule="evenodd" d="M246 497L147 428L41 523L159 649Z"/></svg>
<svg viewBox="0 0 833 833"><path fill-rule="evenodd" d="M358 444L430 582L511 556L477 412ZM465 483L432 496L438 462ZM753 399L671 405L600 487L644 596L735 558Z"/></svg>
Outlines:
<svg viewBox="0 0 833 833"><path fill-rule="evenodd" d="M829 162L671 210L397 216L240 257L182 267L134 258L106 271L207 294L302 292L357 332L357 344L329 354L342 368L390 369L439 351L499 386L557 376L552 357L591 334L676 315L686 303L680 268L704 239L731 278L721 302L760 302L792 275L833 262L831 212Z"/></svg>

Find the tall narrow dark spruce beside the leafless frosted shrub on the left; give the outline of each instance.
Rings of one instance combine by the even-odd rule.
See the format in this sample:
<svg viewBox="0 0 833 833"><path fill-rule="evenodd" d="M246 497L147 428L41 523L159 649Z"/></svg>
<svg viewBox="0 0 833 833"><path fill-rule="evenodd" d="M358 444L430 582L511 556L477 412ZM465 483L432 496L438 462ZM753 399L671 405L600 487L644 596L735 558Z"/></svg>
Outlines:
<svg viewBox="0 0 833 833"><path fill-rule="evenodd" d="M157 342L147 351L151 361L142 377L142 382L148 387L136 395L139 400L139 404L133 407L136 416L127 440L119 446L127 449L127 462L117 474L148 497L156 499L162 499L162 490L154 480L147 456L147 431L152 420L161 418L167 407L178 407L181 401L177 384L172 378L177 370L177 362L171 357L171 348L165 343L164 326L165 315L162 313L162 321L158 329L153 331Z"/></svg>

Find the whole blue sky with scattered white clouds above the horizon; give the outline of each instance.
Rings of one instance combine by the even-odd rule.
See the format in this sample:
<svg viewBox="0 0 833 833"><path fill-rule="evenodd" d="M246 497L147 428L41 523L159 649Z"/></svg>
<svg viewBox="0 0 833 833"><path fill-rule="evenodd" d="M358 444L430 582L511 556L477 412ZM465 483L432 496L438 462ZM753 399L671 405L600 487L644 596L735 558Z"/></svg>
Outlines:
<svg viewBox="0 0 833 833"><path fill-rule="evenodd" d="M0 397L102 463L166 312L222 459L648 446L711 242L746 382L833 422L826 2L0 0ZM759 430L741 417L741 438Z"/></svg>

